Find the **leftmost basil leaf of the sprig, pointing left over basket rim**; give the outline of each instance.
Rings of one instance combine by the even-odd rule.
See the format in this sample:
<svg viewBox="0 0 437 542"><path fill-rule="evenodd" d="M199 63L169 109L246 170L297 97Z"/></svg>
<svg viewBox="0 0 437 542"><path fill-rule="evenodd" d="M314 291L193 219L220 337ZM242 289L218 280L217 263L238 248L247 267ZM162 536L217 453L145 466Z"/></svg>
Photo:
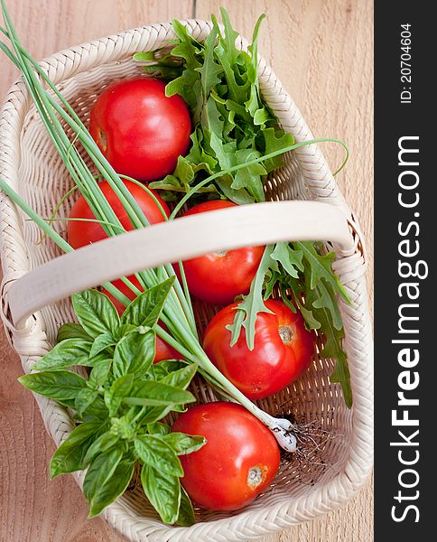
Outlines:
<svg viewBox="0 0 437 542"><path fill-rule="evenodd" d="M25 388L57 401L74 399L81 389L87 387L87 380L70 370L32 373L18 378L18 381Z"/></svg>

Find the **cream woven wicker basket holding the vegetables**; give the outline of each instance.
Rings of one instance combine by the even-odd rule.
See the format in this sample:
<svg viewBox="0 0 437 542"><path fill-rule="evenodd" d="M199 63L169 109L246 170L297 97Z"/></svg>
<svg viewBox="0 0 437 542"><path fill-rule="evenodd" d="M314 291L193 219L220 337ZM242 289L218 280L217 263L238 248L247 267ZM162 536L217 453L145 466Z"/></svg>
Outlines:
<svg viewBox="0 0 437 542"><path fill-rule="evenodd" d="M211 28L210 23L198 20L186 21L185 24L200 41L205 39ZM101 89L115 79L139 73L138 65L132 61L133 53L156 50L173 37L169 23L144 26L60 51L42 61L42 67L59 85L79 116L87 121L89 108ZM239 46L245 47L246 42L241 39ZM259 60L258 71L263 96L284 130L292 133L297 141L311 139L311 132L299 110L263 59ZM246 229L243 228L243 237L240 236L237 244L244 245L245 241L246 244L251 241L261 244L293 238L319 238L331 242L337 252L335 271L353 302L351 305L341 303L340 310L344 320L354 406L349 410L344 405L339 386L330 383L334 362L316 356L311 369L293 386L259 401L259 405L273 415L288 414L299 422L317 421L320 424L314 433L318 446L309 448L307 457L302 458L299 454L284 457L273 486L242 511L218 513L196 510L198 523L191 528L163 525L140 488L127 491L105 511L104 517L130 540L245 541L329 512L349 500L367 480L373 451L373 376L363 239L357 221L316 145L302 147L287 155L285 162L269 181L270 199L308 202L246 206L252 208L249 211L252 216L256 207L256 216L260 218L257 222L261 227L252 228L249 223ZM0 117L0 175L42 216L51 214L71 186L70 176L55 153L23 82L18 82L9 91ZM63 210L65 216L68 211ZM246 223L242 217L242 211L245 211L242 208L236 211L231 224ZM1 195L0 216L4 269L2 316L6 332L21 357L23 369L28 372L36 360L51 350L60 324L72 318L70 300L58 301L60 297L115 277L105 275L108 266L101 265L108 257L104 254L105 244L115 239L98 244L103 247L99 253L95 251L92 254L87 248L86 261L83 258L80 262L74 260L78 251L68 256L72 256L74 261L64 260L64 256L47 266L47 262L60 255L59 249L47 239L42 239L35 224L24 220L23 214L4 194ZM58 224L60 232L65 232L65 223ZM214 232L214 218L209 221L208 228ZM163 259L174 261L177 257L193 256L200 251L224 248L220 246L222 231L219 239L213 233L208 244L207 236L199 236L198 229L194 245L187 241L176 248L170 242L162 241L168 232L165 229L164 233L162 230L154 231L158 229L146 229L141 234L146 236L148 248L156 248L154 256L128 264L118 258L118 263L114 262L114 272L127 274L141 265L142 268L154 266ZM135 234L138 232L119 238L132 238ZM120 250L123 252L122 248ZM75 273L74 266L82 270L87 266L88 271ZM29 273L37 267L40 267L37 272ZM31 316L30 311L33 312ZM196 313L202 329L213 308L198 304ZM192 390L202 401L214 399L213 392L200 378L195 380ZM47 430L60 445L73 426L69 416L53 401L39 396L35 398ZM79 483L82 476L82 473L76 476Z"/></svg>

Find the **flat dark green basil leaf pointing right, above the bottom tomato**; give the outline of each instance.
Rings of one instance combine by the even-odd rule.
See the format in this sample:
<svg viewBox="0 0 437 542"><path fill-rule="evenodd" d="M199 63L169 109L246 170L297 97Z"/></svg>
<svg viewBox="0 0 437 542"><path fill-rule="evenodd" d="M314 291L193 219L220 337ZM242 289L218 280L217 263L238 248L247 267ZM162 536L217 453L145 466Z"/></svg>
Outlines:
<svg viewBox="0 0 437 542"><path fill-rule="evenodd" d="M133 375L127 375L126 377L133 378ZM118 378L118 380L121 380L121 378ZM174 388L153 380L144 380L134 382L129 396L120 397L120 400L130 406L169 406L192 403L196 398L189 391L181 388Z"/></svg>

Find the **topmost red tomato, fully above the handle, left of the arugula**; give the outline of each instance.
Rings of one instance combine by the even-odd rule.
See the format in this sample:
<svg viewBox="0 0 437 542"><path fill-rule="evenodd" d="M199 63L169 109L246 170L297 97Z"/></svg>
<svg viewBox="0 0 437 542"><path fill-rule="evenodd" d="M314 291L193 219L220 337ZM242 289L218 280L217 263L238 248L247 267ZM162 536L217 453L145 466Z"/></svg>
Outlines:
<svg viewBox="0 0 437 542"><path fill-rule="evenodd" d="M117 81L91 109L89 133L116 173L155 181L176 167L190 145L191 119L180 96L159 79Z"/></svg>

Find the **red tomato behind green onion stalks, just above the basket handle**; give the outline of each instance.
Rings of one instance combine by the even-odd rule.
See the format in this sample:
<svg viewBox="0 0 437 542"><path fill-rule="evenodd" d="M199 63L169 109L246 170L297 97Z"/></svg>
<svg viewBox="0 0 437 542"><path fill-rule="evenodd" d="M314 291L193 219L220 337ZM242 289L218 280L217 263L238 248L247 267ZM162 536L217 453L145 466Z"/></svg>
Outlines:
<svg viewBox="0 0 437 542"><path fill-rule="evenodd" d="M134 196L135 201L144 212L144 216L151 224L157 222L163 222L163 214L156 203L153 201L152 196L144 191L141 186L135 184L132 181L123 181L127 190ZM112 207L118 220L120 220L122 226L126 230L133 229L132 222L127 216L126 210L123 207L123 203L118 199L116 193L112 190L110 184L107 181L102 181L99 186L107 198L109 205ZM170 210L167 207L165 201L163 201L156 193L154 193L156 199L163 206L163 210L170 215ZM79 200L75 202L70 212L71 219L95 219L92 211L89 209L88 203L83 196L79 197ZM89 243L96 243L101 239L107 238L107 234L104 229L98 224L98 222L81 222L72 220L68 223L67 237L69 243L73 248L80 248L88 245Z"/></svg>

